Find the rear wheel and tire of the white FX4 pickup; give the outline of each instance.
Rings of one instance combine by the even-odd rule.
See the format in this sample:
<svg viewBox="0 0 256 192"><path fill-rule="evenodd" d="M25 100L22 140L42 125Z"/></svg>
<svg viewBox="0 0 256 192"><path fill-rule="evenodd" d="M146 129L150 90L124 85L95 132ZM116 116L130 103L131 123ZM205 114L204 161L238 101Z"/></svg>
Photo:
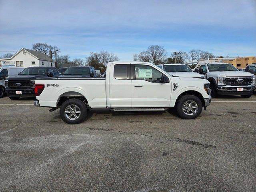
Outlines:
<svg viewBox="0 0 256 192"><path fill-rule="evenodd" d="M74 109L75 106L77 106L79 108L79 110L78 109L70 110L70 108L68 108L68 106L70 106L72 109ZM73 108L73 106L74 106L74 108ZM80 111L80 115L78 116L79 113L65 114L65 110L70 111L70 112ZM68 124L78 124L78 123L83 122L85 120L87 114L88 114L88 112L87 112L86 105L84 104L84 102L82 102L79 99L66 100L60 107L60 117L62 118L62 120L64 122L66 122ZM68 118L66 115L69 116L70 118Z"/></svg>

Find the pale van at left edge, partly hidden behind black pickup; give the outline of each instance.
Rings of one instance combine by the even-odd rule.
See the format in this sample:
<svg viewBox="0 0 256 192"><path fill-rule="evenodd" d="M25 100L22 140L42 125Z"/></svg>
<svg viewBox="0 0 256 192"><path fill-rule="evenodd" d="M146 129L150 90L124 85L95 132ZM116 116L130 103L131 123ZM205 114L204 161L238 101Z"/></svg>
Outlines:
<svg viewBox="0 0 256 192"><path fill-rule="evenodd" d="M0 98L4 97L5 92L5 79L8 77L17 76L22 70L23 67L1 67L0 68Z"/></svg>

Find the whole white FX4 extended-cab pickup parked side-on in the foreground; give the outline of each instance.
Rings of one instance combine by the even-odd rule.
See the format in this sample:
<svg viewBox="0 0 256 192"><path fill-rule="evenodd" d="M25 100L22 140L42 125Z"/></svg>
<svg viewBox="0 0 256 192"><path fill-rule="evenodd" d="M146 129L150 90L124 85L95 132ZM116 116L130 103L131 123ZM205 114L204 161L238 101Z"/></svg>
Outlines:
<svg viewBox="0 0 256 192"><path fill-rule="evenodd" d="M68 124L82 122L90 108L113 111L160 111L176 108L184 119L196 118L211 102L210 83L172 77L148 62L109 62L106 78L36 79L35 106L60 108Z"/></svg>

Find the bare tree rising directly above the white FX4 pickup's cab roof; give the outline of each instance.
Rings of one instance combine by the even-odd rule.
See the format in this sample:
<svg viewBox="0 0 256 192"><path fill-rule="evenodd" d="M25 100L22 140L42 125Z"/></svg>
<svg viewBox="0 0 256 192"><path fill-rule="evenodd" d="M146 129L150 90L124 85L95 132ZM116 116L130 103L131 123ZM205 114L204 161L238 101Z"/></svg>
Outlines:
<svg viewBox="0 0 256 192"><path fill-rule="evenodd" d="M166 55L167 52L164 47L159 45L150 45L146 51L134 54L134 60L161 64L165 62Z"/></svg>

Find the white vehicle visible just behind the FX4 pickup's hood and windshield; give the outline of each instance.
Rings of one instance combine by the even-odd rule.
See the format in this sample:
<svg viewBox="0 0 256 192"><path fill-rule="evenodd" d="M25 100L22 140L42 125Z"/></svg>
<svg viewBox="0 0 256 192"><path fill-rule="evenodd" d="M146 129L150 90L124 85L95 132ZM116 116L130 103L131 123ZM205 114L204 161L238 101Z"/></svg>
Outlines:
<svg viewBox="0 0 256 192"><path fill-rule="evenodd" d="M172 76L178 77L194 77L204 79L204 75L193 72L186 64L159 64L157 65L162 70L168 72Z"/></svg>

